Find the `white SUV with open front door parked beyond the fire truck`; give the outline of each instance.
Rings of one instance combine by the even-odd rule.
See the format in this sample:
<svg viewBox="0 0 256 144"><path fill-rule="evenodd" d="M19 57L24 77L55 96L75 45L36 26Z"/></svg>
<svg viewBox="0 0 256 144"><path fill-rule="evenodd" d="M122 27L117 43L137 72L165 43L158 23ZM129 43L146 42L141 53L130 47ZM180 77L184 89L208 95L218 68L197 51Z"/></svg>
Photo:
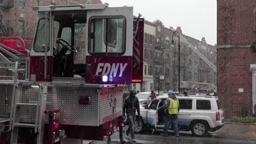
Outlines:
<svg viewBox="0 0 256 144"><path fill-rule="evenodd" d="M141 109L141 126L137 127L135 122L135 131L139 132L146 128L156 130L164 129L165 111L156 111L156 108L165 103L166 95L160 95L149 105L144 105ZM225 124L223 110L218 103L217 96L210 95L177 95L181 109L178 113L179 130L189 131L196 136L205 136L209 131L216 131ZM172 126L170 126L170 130Z"/></svg>

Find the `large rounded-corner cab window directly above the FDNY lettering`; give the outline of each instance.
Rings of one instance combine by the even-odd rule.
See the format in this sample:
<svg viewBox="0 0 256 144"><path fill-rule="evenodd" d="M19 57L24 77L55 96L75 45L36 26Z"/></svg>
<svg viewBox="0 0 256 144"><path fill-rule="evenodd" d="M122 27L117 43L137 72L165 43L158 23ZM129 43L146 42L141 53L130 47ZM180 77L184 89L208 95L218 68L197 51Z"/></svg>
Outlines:
<svg viewBox="0 0 256 144"><path fill-rule="evenodd" d="M91 55L122 55L124 53L124 17L91 17L89 31L88 47Z"/></svg>

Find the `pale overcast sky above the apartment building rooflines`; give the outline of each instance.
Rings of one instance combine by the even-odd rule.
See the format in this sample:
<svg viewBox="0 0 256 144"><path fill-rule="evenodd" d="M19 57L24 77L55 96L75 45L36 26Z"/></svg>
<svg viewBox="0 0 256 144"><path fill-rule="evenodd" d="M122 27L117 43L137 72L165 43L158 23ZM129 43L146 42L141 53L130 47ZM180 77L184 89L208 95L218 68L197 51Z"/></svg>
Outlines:
<svg viewBox="0 0 256 144"><path fill-rule="evenodd" d="M217 44L217 0L101 0L109 7L133 7L148 21L159 19L165 27L182 28L185 35Z"/></svg>

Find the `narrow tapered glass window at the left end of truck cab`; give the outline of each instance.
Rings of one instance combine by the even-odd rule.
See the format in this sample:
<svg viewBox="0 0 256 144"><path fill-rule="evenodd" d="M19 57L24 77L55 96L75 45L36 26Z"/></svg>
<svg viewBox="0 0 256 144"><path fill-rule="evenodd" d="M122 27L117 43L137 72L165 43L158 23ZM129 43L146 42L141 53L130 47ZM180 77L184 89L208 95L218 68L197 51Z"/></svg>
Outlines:
<svg viewBox="0 0 256 144"><path fill-rule="evenodd" d="M36 30L36 38L34 39L33 50L35 52L45 52L45 46L49 51L49 33L50 33L50 19L45 21L45 18L39 20Z"/></svg>

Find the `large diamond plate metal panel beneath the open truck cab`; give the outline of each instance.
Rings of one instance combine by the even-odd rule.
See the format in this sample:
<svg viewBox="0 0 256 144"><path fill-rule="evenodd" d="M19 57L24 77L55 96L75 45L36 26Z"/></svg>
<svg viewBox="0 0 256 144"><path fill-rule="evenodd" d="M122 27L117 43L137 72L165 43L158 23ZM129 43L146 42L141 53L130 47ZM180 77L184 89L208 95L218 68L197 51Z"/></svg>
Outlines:
<svg viewBox="0 0 256 144"><path fill-rule="evenodd" d="M48 87L48 92L46 109L59 109L61 112L61 124L99 125L97 88L53 85ZM80 96L89 96L91 103L89 105L79 105Z"/></svg>

